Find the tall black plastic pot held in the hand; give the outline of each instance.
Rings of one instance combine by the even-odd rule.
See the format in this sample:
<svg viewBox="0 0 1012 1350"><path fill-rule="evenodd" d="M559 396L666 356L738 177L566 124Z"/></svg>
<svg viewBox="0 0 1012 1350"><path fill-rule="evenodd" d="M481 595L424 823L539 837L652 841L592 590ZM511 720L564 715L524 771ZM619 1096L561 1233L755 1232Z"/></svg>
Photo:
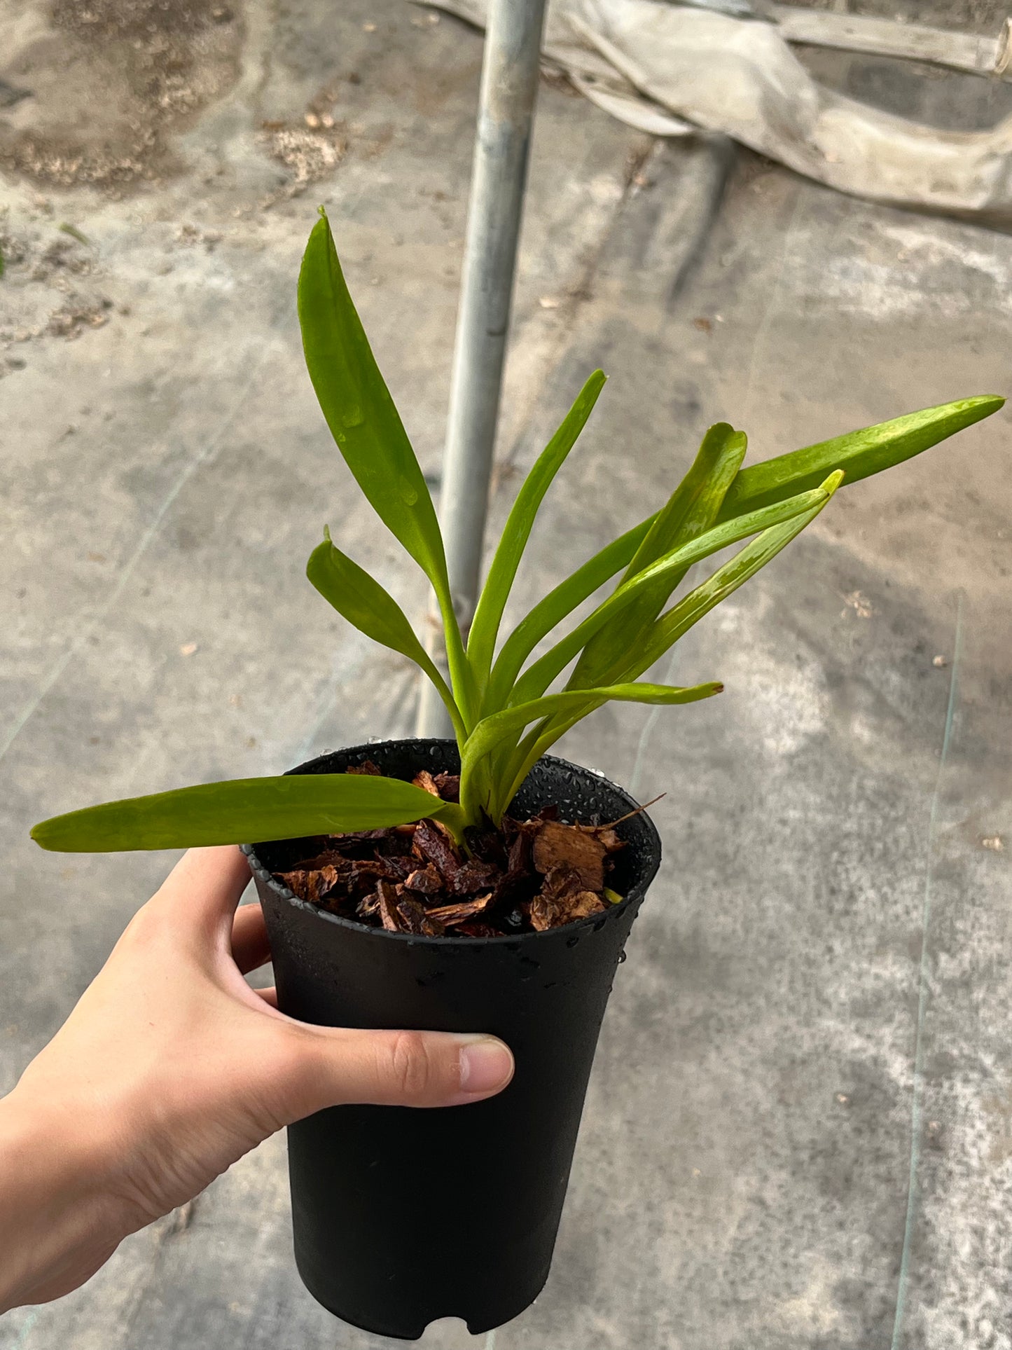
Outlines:
<svg viewBox="0 0 1012 1350"><path fill-rule="evenodd" d="M410 779L456 771L452 741L405 740L324 755L296 774L374 760ZM545 757L514 814L553 802L568 822L613 821L636 803L607 779ZM622 948L660 864L645 814L618 826L627 848L610 884L625 900L548 933L425 938L367 929L277 882L306 841L247 846L278 1004L322 1026L491 1031L515 1056L513 1083L474 1106L432 1111L344 1106L289 1130L296 1264L345 1322L417 1339L456 1316L472 1334L541 1292L565 1199L583 1098Z"/></svg>

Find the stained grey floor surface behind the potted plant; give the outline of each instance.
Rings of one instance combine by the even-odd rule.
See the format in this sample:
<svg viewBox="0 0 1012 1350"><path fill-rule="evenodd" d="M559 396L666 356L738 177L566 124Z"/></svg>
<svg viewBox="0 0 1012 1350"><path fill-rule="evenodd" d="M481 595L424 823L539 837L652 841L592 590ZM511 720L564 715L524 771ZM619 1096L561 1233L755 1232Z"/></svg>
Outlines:
<svg viewBox="0 0 1012 1350"><path fill-rule="evenodd" d="M412 728L412 672L302 576L329 520L424 603L314 405L294 278L327 202L436 474L480 43L399 0L0 0L0 93L32 90L0 109L7 1089L170 861L43 855L31 822ZM818 59L850 88L881 65ZM901 86L932 120L1007 111L970 77ZM517 612L653 509L719 417L761 458L1008 393L1011 281L1008 236L719 140L652 144L544 84L497 521L586 373L611 381ZM571 734L668 794L667 856L552 1278L490 1347L1012 1347L1008 424L841 494L695 629L664 674L723 678L719 701ZM472 1342L447 1322L422 1343ZM0 1320L3 1350L208 1345L389 1345L302 1289L279 1138Z"/></svg>

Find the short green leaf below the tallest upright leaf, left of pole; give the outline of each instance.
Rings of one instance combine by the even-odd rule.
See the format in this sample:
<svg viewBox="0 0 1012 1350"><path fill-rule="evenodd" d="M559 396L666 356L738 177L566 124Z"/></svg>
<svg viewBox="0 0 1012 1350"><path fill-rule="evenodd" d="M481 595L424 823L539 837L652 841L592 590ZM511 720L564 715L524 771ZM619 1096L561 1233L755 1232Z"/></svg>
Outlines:
<svg viewBox="0 0 1012 1350"><path fill-rule="evenodd" d="M374 643L401 652L425 671L449 713L457 742L463 745L467 733L460 709L439 668L418 641L407 616L375 578L337 548L331 540L329 529L324 528L324 535L327 537L322 544L309 555L306 576L324 599L360 633L371 637Z"/></svg>

